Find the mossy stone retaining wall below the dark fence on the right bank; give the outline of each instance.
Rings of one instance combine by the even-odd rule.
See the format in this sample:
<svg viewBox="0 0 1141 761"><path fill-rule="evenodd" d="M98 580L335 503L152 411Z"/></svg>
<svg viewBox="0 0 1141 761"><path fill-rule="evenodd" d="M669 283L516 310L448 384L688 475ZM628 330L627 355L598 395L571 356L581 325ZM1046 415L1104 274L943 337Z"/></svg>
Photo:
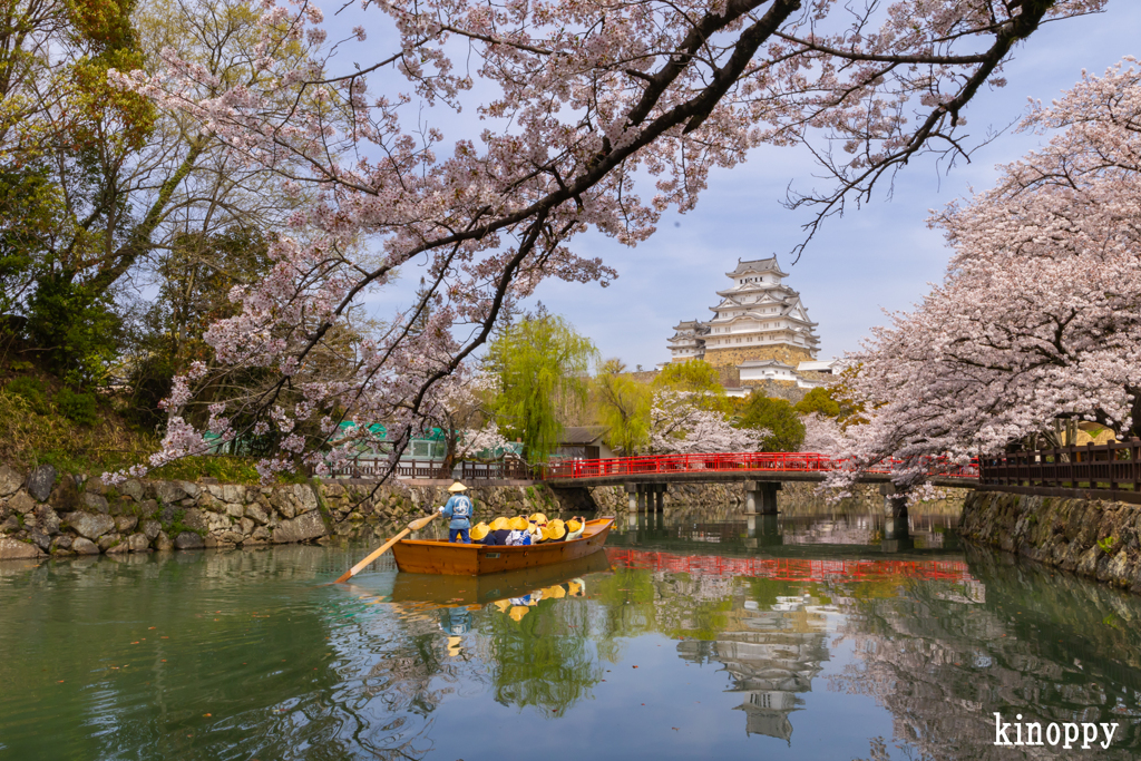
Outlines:
<svg viewBox="0 0 1141 761"><path fill-rule="evenodd" d="M972 492L960 533L971 541L1141 592L1141 505Z"/></svg>

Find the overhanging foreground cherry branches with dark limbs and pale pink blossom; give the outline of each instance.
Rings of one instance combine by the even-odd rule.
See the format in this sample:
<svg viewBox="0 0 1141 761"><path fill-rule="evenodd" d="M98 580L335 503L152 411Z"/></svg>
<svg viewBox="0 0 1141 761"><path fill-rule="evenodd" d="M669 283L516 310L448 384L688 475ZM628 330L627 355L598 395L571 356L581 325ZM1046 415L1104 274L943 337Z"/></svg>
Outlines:
<svg viewBox="0 0 1141 761"><path fill-rule="evenodd" d="M341 43L289 59L291 46L324 40L321 11L296 2L262 0L252 54L264 75L248 86L202 97L215 75L175 52L156 72L111 74L319 195L292 218L316 235L283 236L273 272L235 291L242 314L208 337L219 361L278 374L236 411L286 434L289 456L266 472L319 448L288 434L301 420L319 418L326 436L345 416L416 426L504 308L548 277L615 276L577 254L574 235L645 241L751 148L808 145L832 176L822 194L791 199L814 211L808 237L917 155L965 155L963 111L1004 83L1015 43L1104 0L393 0L367 11L396 48L351 68L333 57ZM478 136L470 121L454 135L426 122L434 108L471 106ZM351 245L362 238L367 254ZM355 381L304 384L302 403L280 404L342 315L412 264L424 266L424 288L367 347ZM201 445L178 422L184 400L176 389L154 464ZM225 431L234 415L219 410L209 428Z"/></svg>

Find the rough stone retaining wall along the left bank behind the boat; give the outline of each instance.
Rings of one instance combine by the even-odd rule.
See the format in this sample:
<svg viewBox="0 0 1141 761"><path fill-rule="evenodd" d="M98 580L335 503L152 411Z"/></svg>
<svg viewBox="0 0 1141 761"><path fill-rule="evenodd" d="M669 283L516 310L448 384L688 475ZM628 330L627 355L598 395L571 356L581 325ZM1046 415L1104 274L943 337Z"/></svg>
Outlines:
<svg viewBox="0 0 1141 761"><path fill-rule="evenodd" d="M478 515L559 507L545 486L476 487L470 494ZM0 560L389 536L446 499L442 486L404 481L377 487L131 479L112 487L51 465L25 475L0 464Z"/></svg>

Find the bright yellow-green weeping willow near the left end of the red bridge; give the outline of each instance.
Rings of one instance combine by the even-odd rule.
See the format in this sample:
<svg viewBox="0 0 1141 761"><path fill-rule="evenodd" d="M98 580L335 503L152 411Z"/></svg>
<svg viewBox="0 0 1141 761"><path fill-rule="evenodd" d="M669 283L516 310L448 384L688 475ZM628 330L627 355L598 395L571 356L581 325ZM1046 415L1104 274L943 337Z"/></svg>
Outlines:
<svg viewBox="0 0 1141 761"><path fill-rule="evenodd" d="M525 456L543 462L558 446L558 410L568 396L585 402L598 349L563 317L540 313L508 326L488 345L485 367L499 380L491 411L501 430L520 438Z"/></svg>

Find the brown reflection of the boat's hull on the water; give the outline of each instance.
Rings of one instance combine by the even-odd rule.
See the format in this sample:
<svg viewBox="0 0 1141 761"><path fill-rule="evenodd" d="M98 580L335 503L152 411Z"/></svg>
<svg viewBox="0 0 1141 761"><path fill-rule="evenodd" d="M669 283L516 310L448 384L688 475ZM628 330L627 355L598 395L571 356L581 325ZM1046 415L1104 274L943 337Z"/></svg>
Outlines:
<svg viewBox="0 0 1141 761"><path fill-rule="evenodd" d="M439 574L396 574L393 602L430 602L432 605L487 605L495 600L523 597L535 590L555 586L578 576L609 570L606 552L591 552L577 560L551 566L505 570L483 576L440 576Z"/></svg>

